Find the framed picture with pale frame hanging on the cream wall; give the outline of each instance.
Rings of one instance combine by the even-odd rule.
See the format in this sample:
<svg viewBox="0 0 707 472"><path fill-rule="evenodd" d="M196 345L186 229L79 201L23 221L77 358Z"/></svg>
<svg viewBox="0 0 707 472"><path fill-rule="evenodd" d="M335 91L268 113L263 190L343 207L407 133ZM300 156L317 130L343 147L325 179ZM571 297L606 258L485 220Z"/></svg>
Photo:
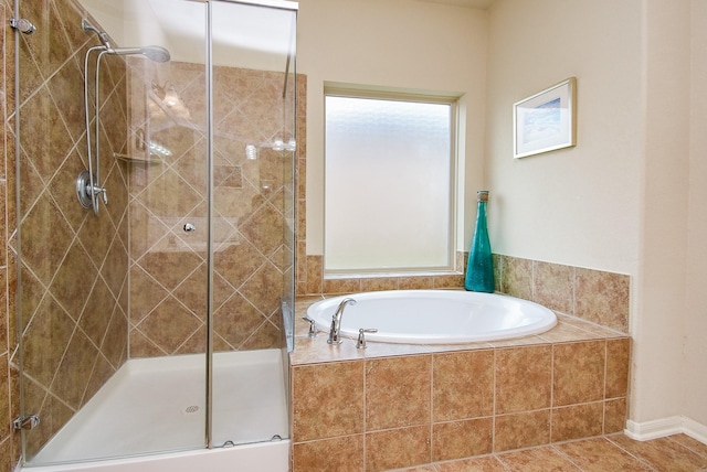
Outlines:
<svg viewBox="0 0 707 472"><path fill-rule="evenodd" d="M577 78L570 77L513 106L514 158L576 146Z"/></svg>

